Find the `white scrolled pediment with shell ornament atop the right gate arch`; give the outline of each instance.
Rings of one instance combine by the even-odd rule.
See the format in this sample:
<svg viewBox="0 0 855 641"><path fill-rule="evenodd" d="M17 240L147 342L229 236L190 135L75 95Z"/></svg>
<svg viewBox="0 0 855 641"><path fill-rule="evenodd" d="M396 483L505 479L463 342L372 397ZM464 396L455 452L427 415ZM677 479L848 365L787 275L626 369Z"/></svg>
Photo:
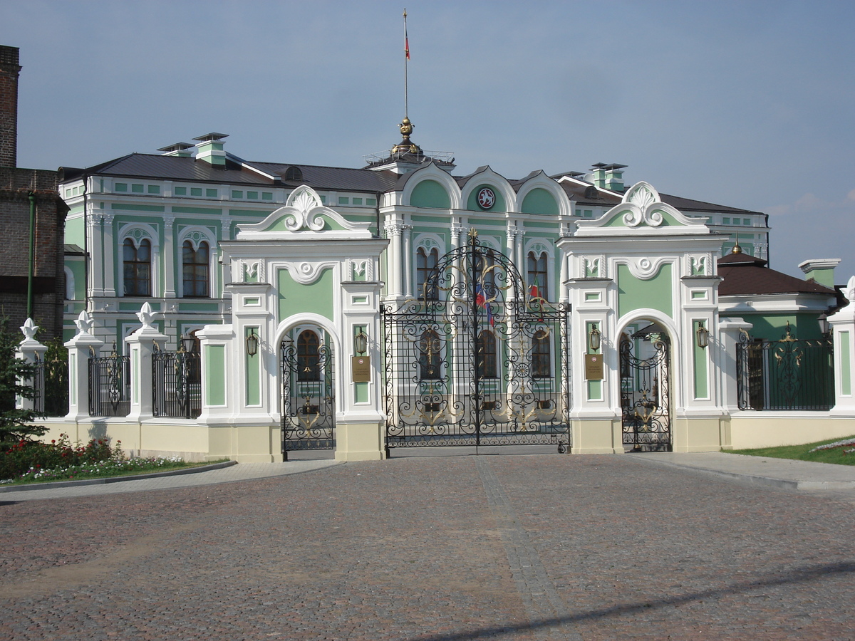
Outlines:
<svg viewBox="0 0 855 641"><path fill-rule="evenodd" d="M663 203L653 185L644 181L630 187L604 215L593 221L578 221L575 236L685 235L709 234L704 220L688 218Z"/></svg>

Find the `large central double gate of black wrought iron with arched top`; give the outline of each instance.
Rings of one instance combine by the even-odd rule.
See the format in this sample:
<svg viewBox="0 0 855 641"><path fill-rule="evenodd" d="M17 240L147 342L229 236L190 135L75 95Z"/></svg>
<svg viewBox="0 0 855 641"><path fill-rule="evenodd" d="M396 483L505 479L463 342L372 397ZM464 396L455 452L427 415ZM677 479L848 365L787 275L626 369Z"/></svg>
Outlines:
<svg viewBox="0 0 855 641"><path fill-rule="evenodd" d="M429 445L569 451L569 306L527 290L502 253L439 259L416 299L381 306L386 453Z"/></svg>

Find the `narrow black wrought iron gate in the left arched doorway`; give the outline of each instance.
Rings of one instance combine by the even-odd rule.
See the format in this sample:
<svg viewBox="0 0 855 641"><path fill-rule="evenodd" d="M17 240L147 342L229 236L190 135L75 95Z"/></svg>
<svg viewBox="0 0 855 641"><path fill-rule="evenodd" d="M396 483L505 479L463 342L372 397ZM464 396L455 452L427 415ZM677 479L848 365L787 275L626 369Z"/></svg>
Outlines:
<svg viewBox="0 0 855 641"><path fill-rule="evenodd" d="M312 339L314 337L314 339ZM312 331L282 341L282 454L335 448L333 351Z"/></svg>

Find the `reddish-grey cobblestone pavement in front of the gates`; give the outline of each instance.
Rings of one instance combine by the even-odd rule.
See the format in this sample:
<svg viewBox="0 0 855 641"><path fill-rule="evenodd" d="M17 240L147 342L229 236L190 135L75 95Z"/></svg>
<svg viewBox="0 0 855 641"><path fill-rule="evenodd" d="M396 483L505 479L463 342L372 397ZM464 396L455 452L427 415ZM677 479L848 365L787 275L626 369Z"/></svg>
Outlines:
<svg viewBox="0 0 855 641"><path fill-rule="evenodd" d="M0 496L3 639L855 639L852 492L633 456Z"/></svg>

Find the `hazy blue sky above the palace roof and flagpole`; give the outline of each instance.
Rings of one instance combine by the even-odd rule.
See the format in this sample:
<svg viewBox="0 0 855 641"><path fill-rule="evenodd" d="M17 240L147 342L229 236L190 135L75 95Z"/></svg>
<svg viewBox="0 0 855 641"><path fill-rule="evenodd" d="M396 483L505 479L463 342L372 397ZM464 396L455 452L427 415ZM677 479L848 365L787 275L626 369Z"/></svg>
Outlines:
<svg viewBox="0 0 855 641"><path fill-rule="evenodd" d="M770 215L771 266L855 274L852 2L0 0L18 164L85 167L228 133L250 160L361 167L410 119L456 173L628 165Z"/></svg>

